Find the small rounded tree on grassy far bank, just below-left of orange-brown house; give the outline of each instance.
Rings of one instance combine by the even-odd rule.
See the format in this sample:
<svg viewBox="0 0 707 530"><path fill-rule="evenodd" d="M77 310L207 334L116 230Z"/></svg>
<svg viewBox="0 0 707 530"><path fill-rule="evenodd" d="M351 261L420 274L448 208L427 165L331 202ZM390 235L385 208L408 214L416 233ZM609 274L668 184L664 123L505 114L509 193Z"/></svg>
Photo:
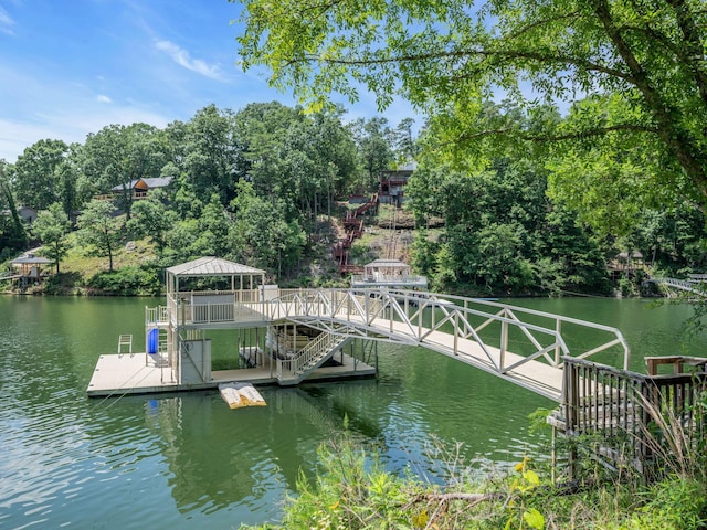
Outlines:
<svg viewBox="0 0 707 530"><path fill-rule="evenodd" d="M115 206L108 201L91 201L78 218L78 235L88 252L108 258L113 271L113 255L123 237L120 224L114 218Z"/></svg>

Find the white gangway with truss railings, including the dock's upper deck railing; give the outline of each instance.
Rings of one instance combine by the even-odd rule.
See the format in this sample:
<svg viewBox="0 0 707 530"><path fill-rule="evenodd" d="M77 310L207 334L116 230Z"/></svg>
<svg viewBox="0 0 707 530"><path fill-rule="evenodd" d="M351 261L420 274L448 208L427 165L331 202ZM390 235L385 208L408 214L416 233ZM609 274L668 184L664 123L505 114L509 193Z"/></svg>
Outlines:
<svg viewBox="0 0 707 530"><path fill-rule="evenodd" d="M230 300L222 296L231 294ZM536 373L541 369L552 381L559 381L561 378L556 378L552 370L559 371L563 356L585 359L619 347L623 349L622 368L627 369L630 362L631 350L616 328L496 300L356 287L273 289L267 298L256 295L256 289L179 293L179 299L168 297L165 311L170 326L197 329L232 322L268 326L286 320L336 336L423 346L553 398L561 382L549 385ZM147 311L148 320L161 317L160 308ZM602 338L599 344L599 337L591 339L591 344L572 344L570 351L566 341L570 333L563 329L568 325L609 333L610 338ZM514 329L519 331L513 332ZM511 340L520 340L520 346L510 343ZM519 350L520 347L524 349ZM544 361L547 367L530 364L534 361Z"/></svg>

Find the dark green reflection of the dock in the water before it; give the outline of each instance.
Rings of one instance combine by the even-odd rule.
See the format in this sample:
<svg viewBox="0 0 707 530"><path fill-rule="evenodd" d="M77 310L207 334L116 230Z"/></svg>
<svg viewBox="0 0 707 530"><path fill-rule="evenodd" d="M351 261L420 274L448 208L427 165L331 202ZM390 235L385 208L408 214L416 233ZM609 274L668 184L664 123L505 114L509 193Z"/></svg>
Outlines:
<svg viewBox="0 0 707 530"><path fill-rule="evenodd" d="M340 430L299 389L261 393L267 406L239 410L213 392L146 400L146 423L160 437L181 512L267 506L295 490L302 463L314 462L318 441Z"/></svg>

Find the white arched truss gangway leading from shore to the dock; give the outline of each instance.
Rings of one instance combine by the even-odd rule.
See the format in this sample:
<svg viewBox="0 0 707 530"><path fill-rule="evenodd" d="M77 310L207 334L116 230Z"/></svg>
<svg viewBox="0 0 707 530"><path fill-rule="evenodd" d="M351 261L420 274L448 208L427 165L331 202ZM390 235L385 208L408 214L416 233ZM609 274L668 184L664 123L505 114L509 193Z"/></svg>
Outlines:
<svg viewBox="0 0 707 530"><path fill-rule="evenodd" d="M272 320L422 346L558 402L562 356L584 359L618 348L621 368L629 365L629 347L615 328L490 300L441 296L381 289L304 290L284 293L266 310ZM598 342L570 351L563 332L578 327L592 329Z"/></svg>

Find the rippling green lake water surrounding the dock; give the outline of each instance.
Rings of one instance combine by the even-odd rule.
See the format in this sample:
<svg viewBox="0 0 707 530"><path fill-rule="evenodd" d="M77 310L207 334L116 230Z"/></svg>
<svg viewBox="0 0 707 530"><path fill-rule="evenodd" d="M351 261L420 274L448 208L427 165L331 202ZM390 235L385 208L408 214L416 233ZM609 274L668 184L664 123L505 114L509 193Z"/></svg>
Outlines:
<svg viewBox="0 0 707 530"><path fill-rule="evenodd" d="M213 392L86 398L98 354L161 300L0 297L0 528L238 528L276 521L299 470L344 431L389 469L443 476L431 451L504 467L547 443L527 416L552 402L422 348L381 343L377 380L264 388L266 407L231 411ZM632 368L685 342L685 305L593 298L504 300L618 327Z"/></svg>

